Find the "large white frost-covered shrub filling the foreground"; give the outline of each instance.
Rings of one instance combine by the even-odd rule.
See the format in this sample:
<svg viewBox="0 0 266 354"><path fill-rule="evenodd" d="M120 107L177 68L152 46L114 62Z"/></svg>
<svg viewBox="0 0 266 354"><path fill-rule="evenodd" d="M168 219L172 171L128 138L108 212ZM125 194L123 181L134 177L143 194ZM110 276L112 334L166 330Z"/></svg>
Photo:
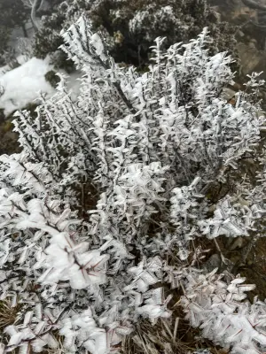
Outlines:
<svg viewBox="0 0 266 354"><path fill-rule="evenodd" d="M250 350L263 345L264 307L241 303L252 287L196 271L201 255L190 247L204 235L253 235L264 213L263 189L248 179L214 212L207 197L256 153L257 81L234 105L223 99L231 58L208 54L207 29L166 52L158 38L142 75L116 65L85 18L64 40L84 73L80 95L73 101L61 77L34 118L17 113L22 152L0 158L0 299L20 305L2 352L56 350L59 338L66 353L119 351L140 319L170 318L164 292L176 287L205 336L225 346L233 336L238 353L243 338ZM234 336L237 317L246 322Z"/></svg>

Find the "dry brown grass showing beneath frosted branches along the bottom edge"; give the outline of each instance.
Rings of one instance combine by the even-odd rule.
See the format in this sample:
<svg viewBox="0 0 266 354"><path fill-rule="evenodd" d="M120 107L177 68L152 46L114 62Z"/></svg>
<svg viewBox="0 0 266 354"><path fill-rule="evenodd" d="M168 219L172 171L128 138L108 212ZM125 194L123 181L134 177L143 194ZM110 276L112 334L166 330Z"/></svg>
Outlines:
<svg viewBox="0 0 266 354"><path fill-rule="evenodd" d="M175 297L179 296L176 294ZM7 301L0 303L0 332L15 322L18 312L19 305L12 307ZM56 333L54 335L59 347L54 350L45 349L42 354L65 354L63 337ZM192 354L199 349L208 349L212 354L228 354L228 351L200 337L200 330L190 327L178 305L173 307L172 319L159 319L154 326L149 320L142 320L135 333L125 337L121 344L121 354ZM14 350L12 353L18 352Z"/></svg>

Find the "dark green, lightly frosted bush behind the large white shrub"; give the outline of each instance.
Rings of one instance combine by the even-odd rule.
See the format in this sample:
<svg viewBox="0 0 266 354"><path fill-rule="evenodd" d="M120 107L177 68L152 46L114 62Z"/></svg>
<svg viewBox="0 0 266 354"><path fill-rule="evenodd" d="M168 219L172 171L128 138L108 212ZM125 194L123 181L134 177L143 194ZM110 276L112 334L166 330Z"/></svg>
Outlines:
<svg viewBox="0 0 266 354"><path fill-rule="evenodd" d="M209 46L212 54L227 50L237 57L235 29L220 22L206 0L66 0L57 11L43 17L43 27L35 35L35 56L43 58L57 50L62 41L60 30L66 30L82 13L94 30L104 32L117 62L144 68L156 37L167 37L165 50L173 43L188 42L203 27L208 27L214 38ZM61 65L65 63L62 58Z"/></svg>

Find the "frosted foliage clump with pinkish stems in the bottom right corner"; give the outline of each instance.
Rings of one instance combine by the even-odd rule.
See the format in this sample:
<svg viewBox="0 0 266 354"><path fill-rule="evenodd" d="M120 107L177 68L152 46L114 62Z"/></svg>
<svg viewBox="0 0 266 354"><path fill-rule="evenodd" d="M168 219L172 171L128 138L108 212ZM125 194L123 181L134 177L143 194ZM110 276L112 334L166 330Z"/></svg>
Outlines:
<svg viewBox="0 0 266 354"><path fill-rule="evenodd" d="M202 335L231 348L231 353L260 353L266 345L266 304L246 299L246 291L254 285L244 284L245 278L223 281L215 272L187 275L186 289L181 302L193 327L200 327Z"/></svg>

